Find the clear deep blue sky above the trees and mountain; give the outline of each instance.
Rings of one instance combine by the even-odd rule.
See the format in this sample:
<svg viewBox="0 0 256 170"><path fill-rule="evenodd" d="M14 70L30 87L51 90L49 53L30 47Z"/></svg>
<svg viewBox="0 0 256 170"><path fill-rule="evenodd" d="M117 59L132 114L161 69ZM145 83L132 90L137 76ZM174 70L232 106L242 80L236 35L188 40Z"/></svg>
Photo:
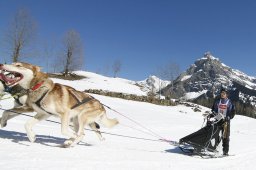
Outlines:
<svg viewBox="0 0 256 170"><path fill-rule="evenodd" d="M166 63L185 71L210 51L256 76L254 0L0 0L0 35L19 8L37 21L40 42L79 32L87 71L111 75L120 60L119 77L143 80Z"/></svg>

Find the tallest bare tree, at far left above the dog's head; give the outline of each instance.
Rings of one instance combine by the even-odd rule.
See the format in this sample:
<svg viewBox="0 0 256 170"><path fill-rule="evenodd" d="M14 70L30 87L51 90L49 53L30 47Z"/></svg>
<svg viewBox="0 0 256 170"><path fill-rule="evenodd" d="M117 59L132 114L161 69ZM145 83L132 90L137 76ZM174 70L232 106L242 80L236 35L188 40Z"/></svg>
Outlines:
<svg viewBox="0 0 256 170"><path fill-rule="evenodd" d="M36 36L36 22L26 9L19 9L11 20L4 42L13 62L24 57Z"/></svg>

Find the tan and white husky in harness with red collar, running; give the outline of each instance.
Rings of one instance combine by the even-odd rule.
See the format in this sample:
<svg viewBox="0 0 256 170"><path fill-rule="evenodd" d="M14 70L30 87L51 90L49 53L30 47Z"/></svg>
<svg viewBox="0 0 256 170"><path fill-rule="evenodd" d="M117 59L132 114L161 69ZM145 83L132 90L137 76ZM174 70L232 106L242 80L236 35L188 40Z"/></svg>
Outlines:
<svg viewBox="0 0 256 170"><path fill-rule="evenodd" d="M47 74L40 72L38 66L18 62L0 65L0 70L5 72L0 74L0 78L7 86L19 85L27 90L24 107L36 112L36 115L25 124L31 142L35 141L33 126L51 115L60 117L61 133L69 137L64 142L64 147L72 146L83 139L85 125L97 130L94 123L96 121L106 127L118 124L116 119L107 117L104 106L97 99L72 87L54 83ZM76 124L76 132L68 128L71 119Z"/></svg>

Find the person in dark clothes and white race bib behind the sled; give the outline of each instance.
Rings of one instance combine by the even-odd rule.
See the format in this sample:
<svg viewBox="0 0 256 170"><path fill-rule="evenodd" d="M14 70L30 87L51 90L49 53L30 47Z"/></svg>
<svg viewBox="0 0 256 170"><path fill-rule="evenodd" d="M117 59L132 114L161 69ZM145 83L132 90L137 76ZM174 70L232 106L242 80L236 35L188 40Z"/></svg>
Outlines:
<svg viewBox="0 0 256 170"><path fill-rule="evenodd" d="M212 106L212 112L220 113L224 117L224 123L221 127L223 134L222 147L223 155L228 155L230 140L230 120L235 116L235 106L228 98L227 89L221 89L220 98L214 102Z"/></svg>

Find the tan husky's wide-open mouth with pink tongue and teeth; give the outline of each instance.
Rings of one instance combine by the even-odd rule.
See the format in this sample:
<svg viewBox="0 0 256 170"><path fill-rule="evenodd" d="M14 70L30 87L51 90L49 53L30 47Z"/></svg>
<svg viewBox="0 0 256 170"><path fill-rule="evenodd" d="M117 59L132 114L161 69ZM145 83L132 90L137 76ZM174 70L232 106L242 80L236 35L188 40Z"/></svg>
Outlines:
<svg viewBox="0 0 256 170"><path fill-rule="evenodd" d="M23 75L21 73L0 69L0 79L4 81L7 86L16 84L22 78Z"/></svg>

